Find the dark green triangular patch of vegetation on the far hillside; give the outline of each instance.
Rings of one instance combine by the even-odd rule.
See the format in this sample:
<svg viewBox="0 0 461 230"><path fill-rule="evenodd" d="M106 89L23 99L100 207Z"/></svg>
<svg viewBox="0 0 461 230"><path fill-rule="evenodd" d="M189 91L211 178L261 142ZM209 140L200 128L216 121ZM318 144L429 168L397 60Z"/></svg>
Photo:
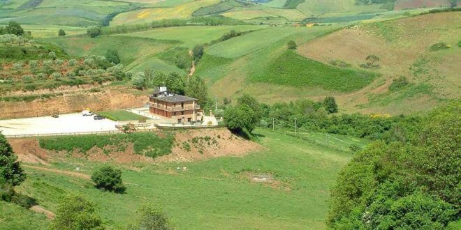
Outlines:
<svg viewBox="0 0 461 230"><path fill-rule="evenodd" d="M268 82L295 87L320 87L330 91L350 92L362 89L377 75L352 68L337 68L306 59L287 50L262 72L251 75L254 82Z"/></svg>

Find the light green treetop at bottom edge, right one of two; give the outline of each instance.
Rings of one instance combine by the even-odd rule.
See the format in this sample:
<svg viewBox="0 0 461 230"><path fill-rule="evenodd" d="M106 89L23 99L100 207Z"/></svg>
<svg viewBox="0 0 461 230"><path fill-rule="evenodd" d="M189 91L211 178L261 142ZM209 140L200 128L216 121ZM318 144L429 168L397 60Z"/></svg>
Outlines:
<svg viewBox="0 0 461 230"><path fill-rule="evenodd" d="M138 210L138 220L129 229L168 230L170 221L163 210L152 204L142 206Z"/></svg>

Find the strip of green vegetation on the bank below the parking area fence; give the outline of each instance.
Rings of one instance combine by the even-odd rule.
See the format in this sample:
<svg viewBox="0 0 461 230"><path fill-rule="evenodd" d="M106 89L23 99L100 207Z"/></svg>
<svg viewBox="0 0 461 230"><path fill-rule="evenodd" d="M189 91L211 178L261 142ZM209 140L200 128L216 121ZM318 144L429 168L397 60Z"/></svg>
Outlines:
<svg viewBox="0 0 461 230"><path fill-rule="evenodd" d="M132 133L120 135L81 135L75 137L46 137L40 139L40 146L54 151L73 151L78 149L86 153L89 149L97 146L117 146L119 151L126 148L126 144L132 143L136 154L146 155L152 158L171 153L174 137L166 135L159 137L155 133Z"/></svg>

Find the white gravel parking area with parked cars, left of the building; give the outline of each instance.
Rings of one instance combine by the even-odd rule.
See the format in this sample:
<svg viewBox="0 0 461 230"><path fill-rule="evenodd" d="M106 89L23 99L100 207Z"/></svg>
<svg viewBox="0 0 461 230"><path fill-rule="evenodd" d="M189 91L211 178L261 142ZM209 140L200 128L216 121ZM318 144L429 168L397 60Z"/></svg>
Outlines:
<svg viewBox="0 0 461 230"><path fill-rule="evenodd" d="M94 120L93 116L82 114L61 114L59 118L41 116L0 120L3 135L47 135L73 132L117 131L118 123L109 119Z"/></svg>

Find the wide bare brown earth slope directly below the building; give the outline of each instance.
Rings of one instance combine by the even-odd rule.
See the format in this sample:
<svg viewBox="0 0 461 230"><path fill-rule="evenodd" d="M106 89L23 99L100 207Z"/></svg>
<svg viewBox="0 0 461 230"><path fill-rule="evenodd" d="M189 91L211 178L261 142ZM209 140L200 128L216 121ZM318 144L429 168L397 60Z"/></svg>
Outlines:
<svg viewBox="0 0 461 230"><path fill-rule="evenodd" d="M221 156L244 156L261 149L261 145L238 137L226 128L188 130L175 135L171 154L156 158L154 162L191 162Z"/></svg>

